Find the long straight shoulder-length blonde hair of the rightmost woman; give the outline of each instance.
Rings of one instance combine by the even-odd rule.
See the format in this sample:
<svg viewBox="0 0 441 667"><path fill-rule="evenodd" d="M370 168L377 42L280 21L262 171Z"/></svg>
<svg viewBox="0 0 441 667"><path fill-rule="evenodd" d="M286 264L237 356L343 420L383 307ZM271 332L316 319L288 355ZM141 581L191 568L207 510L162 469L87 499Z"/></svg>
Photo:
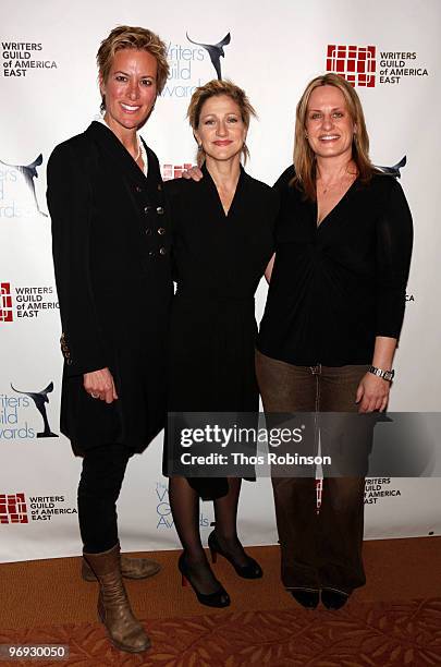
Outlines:
<svg viewBox="0 0 441 667"><path fill-rule="evenodd" d="M294 135L295 175L292 181L299 190L304 191L308 199L313 201L317 197L317 162L316 155L306 137L306 116L310 95L319 86L334 86L343 94L352 122L356 126L352 143L352 159L357 166L358 178L362 182L367 183L375 172L375 167L369 158L369 136L366 130L365 114L363 113L362 102L355 88L338 74L329 73L316 76L306 86L296 109Z"/></svg>

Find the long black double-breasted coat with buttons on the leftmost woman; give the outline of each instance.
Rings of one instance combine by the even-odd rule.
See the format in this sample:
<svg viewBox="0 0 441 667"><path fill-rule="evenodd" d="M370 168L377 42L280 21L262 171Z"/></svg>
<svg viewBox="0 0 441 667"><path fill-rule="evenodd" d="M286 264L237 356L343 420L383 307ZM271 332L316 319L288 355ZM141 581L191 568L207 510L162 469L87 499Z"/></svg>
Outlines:
<svg viewBox="0 0 441 667"><path fill-rule="evenodd" d="M146 178L117 136L93 122L48 163L61 430L77 451L110 442L142 451L166 420L170 222L158 159L149 148L147 157ZM111 404L83 388L83 374L103 367L119 396Z"/></svg>

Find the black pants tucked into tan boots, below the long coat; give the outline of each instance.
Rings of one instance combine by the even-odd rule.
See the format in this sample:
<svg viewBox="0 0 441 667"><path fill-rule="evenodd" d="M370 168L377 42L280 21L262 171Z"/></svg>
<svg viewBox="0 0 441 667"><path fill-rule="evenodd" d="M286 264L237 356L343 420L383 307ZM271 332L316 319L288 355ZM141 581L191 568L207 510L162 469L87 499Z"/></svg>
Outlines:
<svg viewBox="0 0 441 667"><path fill-rule="evenodd" d="M117 500L131 456L123 445L103 445L84 456L78 520L86 554L107 551L118 542Z"/></svg>

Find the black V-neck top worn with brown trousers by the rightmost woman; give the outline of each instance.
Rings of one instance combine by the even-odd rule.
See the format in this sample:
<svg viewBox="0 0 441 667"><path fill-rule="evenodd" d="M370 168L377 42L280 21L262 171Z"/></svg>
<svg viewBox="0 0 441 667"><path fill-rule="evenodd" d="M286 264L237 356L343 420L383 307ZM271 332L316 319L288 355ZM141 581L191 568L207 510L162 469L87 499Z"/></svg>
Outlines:
<svg viewBox="0 0 441 667"><path fill-rule="evenodd" d="M377 336L399 338L413 228L396 180L356 180L317 227L317 203L274 187L281 208L258 349L295 365L370 364Z"/></svg>

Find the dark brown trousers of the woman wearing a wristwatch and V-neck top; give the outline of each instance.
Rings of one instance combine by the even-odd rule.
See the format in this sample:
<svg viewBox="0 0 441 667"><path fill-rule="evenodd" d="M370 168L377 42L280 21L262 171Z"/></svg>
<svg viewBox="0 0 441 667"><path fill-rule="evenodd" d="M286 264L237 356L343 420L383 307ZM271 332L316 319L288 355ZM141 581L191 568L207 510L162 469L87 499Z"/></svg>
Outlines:
<svg viewBox="0 0 441 667"><path fill-rule="evenodd" d="M356 413L355 395L367 369L364 365L294 366L256 354L266 413ZM273 477L272 487L284 585L345 593L364 585L364 477L324 478L319 513L315 478Z"/></svg>

